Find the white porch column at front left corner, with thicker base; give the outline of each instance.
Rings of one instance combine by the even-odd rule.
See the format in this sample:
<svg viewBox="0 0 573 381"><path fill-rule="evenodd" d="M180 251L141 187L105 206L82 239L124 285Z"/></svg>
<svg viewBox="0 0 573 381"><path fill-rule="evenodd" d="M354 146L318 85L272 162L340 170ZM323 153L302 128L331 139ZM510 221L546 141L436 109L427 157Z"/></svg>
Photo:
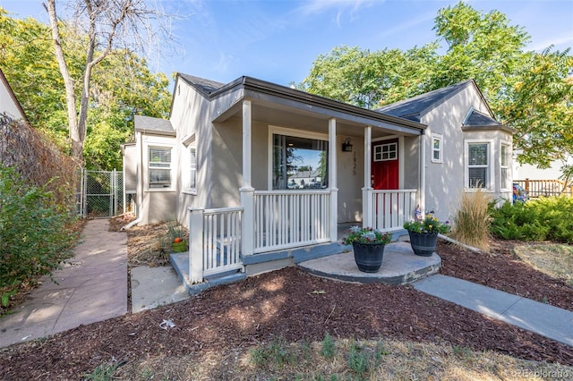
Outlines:
<svg viewBox="0 0 573 381"><path fill-rule="evenodd" d="M252 188L252 121L251 101L243 101L243 186L241 206L243 210L243 255L254 253L254 188Z"/></svg>

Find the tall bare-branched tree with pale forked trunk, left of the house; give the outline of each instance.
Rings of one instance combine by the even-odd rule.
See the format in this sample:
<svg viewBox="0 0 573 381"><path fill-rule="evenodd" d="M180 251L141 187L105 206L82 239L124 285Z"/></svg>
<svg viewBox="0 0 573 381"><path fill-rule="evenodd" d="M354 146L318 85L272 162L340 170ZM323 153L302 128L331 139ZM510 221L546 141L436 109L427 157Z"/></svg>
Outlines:
<svg viewBox="0 0 573 381"><path fill-rule="evenodd" d="M165 29L158 22L152 25L152 21L158 21L160 13L140 0L64 0L64 3L73 8L73 20L68 23L58 17L60 13L56 12L56 0L47 0L45 7L56 61L64 80L72 156L81 160L88 129L94 70L115 49L143 50L143 40L165 32ZM66 32L70 31L75 31L83 39L83 48L79 49L83 54L81 64L70 59L78 46L70 52L64 44ZM74 75L74 69L80 70L79 76Z"/></svg>

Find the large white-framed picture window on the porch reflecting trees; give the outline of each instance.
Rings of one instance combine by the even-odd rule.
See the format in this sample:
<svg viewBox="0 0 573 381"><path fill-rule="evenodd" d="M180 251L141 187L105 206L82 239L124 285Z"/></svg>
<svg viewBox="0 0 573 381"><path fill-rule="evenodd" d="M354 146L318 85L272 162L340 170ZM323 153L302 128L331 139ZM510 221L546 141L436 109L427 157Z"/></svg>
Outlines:
<svg viewBox="0 0 573 381"><path fill-rule="evenodd" d="M273 190L328 188L328 141L277 133L272 141Z"/></svg>

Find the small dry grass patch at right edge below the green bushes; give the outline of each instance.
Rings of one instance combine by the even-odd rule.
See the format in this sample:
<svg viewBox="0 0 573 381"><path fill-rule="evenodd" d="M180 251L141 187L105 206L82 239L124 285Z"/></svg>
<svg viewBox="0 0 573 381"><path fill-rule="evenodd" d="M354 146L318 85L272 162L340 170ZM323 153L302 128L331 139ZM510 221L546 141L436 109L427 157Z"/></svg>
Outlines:
<svg viewBox="0 0 573 381"><path fill-rule="evenodd" d="M515 252L531 267L573 286L573 247L559 243L518 246Z"/></svg>

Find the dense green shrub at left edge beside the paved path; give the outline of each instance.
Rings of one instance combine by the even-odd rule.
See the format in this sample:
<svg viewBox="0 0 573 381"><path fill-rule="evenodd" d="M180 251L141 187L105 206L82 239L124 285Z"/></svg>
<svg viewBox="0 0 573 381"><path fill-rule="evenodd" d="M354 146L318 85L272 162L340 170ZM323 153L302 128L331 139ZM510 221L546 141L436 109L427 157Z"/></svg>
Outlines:
<svg viewBox="0 0 573 381"><path fill-rule="evenodd" d="M50 274L70 249L76 235L66 228L70 217L53 192L29 186L13 168L0 165L0 294L27 279ZM4 306L5 307L5 306Z"/></svg>

